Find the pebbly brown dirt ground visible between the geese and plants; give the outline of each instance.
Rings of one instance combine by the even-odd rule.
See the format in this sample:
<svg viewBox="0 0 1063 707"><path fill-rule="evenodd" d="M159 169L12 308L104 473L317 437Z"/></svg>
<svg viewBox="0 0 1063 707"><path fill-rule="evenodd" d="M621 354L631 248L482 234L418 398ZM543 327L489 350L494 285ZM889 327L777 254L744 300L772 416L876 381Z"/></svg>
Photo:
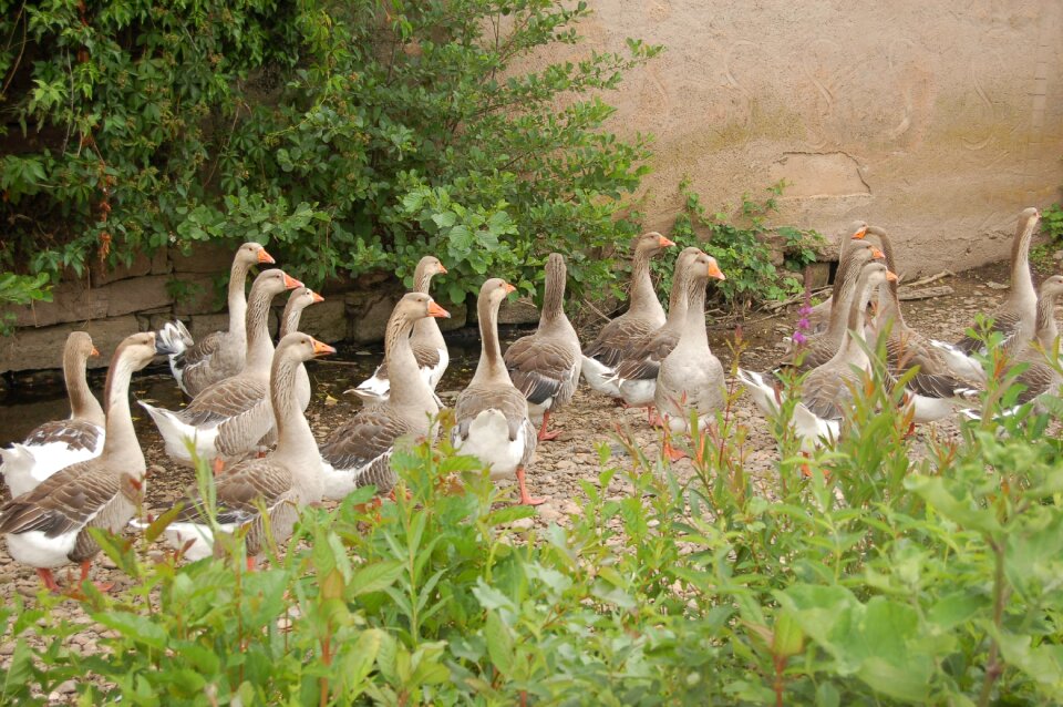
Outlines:
<svg viewBox="0 0 1063 707"><path fill-rule="evenodd" d="M976 312L990 311L1004 294L1001 284L1008 281L1007 264L997 264L949 276L932 284L933 287L948 285L953 294L939 296L932 299L920 299L902 303L905 317L909 326L936 338L953 340L958 338L964 327L970 326ZM792 331L796 320L796 305L788 307L775 316L764 312L753 314L743 322L743 335L752 346L743 355L743 367L762 370L771 366L782 354L782 339ZM731 351L727 341L733 338L733 321L711 321L710 338L713 351L721 358L724 369L731 363ZM585 340L589 340L592 331L585 332ZM317 393L309 410L309 419L314 433L323 438L339 421L352 414L358 403L354 396L344 395L343 390L353 382L343 376L320 376L324 363L311 368L311 378L316 379ZM467 375L467 372L466 372ZM440 386L444 402L453 401L458 390L457 383L452 381L455 376L450 372ZM136 385L136 383L134 383ZM134 406L135 407L135 406ZM740 424L749 430L751 453L747 471L754 478L764 475L776 460L775 444L767 433L767 426L749 396L742 395L736 402L734 416ZM146 417L146 416L145 416ZM539 445L535 461L528 471L528 485L533 495L546 496L548 500L538 506L534 519L518 521L518 527L545 527L549 523L566 524L568 516L580 513L581 481L597 483L600 471L597 449L605 443L613 453L612 463L629 464L623 457L627 452L618 442L615 430L619 426L630 431L636 442L646 451L647 455L656 458L660 448L660 433L646 423L642 410L623 410L616 407L605 396L592 392L581 386L572 402L557 412L551 422L563 430L560 438L553 442ZM956 434L956 426L946 421L937 426L938 434ZM171 462L163 452L163 443L154 427L146 419L137 421L140 440L145 450L149 467L148 478L148 508L167 508L193 482L189 470L182 469ZM925 430L918 432L926 434ZM689 461L682 460L674 467L680 475L690 474ZM7 491L4 490L4 496ZM622 496L626 488L622 481L616 480L607 491L609 495ZM508 498L516 500L516 488L509 486ZM504 492L503 498L507 498ZM93 578L112 582L115 590L121 592L128 586L131 580L114 570L109 561L101 556L95 563ZM60 576L60 582L63 583ZM29 567L17 565L7 554L7 549L0 543L0 601L11 602L16 593L32 603L40 590L40 583L34 572ZM93 624L81 606L74 601L68 601L60 609L65 618L85 624L85 631L73 637L75 649L92 652L96 649L100 633L103 626ZM6 667L10 660L14 642L11 636L0 637L0 667ZM72 685L64 685L73 691ZM55 701L64 701L64 690L53 694Z"/></svg>

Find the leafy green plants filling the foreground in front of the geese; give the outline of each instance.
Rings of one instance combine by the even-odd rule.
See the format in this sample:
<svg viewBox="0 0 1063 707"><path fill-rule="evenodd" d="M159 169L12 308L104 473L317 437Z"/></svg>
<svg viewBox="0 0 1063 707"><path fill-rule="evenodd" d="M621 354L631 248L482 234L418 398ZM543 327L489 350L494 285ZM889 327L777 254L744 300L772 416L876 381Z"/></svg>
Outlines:
<svg viewBox="0 0 1063 707"><path fill-rule="evenodd" d="M43 704L79 678L84 705L1059 704L1063 445L1045 431L1063 402L912 462L883 376L837 443L805 457L778 434L756 479L730 403L689 440L685 481L630 440L621 465L602 448L568 529L516 530L533 511L443 444L393 458L394 503L308 509L260 572L238 543L182 565L107 542L135 586L83 601L115 637L83 656L55 597L4 607L0 695Z"/></svg>

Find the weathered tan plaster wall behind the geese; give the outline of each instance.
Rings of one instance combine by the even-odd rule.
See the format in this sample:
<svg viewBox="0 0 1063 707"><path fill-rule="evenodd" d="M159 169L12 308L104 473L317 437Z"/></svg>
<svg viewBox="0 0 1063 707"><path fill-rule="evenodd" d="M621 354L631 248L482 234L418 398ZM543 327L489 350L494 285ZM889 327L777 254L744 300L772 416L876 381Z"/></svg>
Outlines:
<svg viewBox="0 0 1063 707"><path fill-rule="evenodd" d="M780 222L854 218L909 276L1005 257L1063 184L1063 2L591 0L589 48L668 49L608 96L657 136L649 225L689 175L715 207L785 177ZM574 54L576 55L576 54Z"/></svg>

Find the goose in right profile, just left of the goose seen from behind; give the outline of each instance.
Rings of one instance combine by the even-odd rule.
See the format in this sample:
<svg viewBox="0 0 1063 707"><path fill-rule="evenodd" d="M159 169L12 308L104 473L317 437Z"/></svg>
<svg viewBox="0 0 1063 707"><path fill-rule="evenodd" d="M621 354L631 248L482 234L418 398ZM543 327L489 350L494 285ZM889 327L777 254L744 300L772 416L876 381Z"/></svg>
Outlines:
<svg viewBox="0 0 1063 707"><path fill-rule="evenodd" d="M378 493L395 485L391 453L401 437L427 438L440 407L420 375L410 334L425 317L450 317L424 293L409 293L391 312L384 332L384 362L391 371L388 400L363 408L318 448L324 474L324 498L342 500L359 486Z"/></svg>

